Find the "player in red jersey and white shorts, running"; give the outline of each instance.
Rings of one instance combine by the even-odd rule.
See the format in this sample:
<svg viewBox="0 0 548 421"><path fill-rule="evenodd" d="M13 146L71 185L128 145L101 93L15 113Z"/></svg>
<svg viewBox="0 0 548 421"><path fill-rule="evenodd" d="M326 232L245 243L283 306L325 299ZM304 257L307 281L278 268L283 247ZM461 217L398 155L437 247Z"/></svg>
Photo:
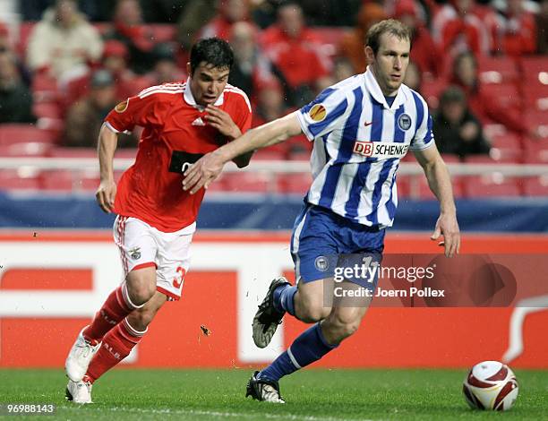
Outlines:
<svg viewBox="0 0 548 421"><path fill-rule="evenodd" d="M114 238L125 278L74 342L66 359L68 400L91 402L91 385L127 357L167 300L178 300L189 268L189 245L204 190L184 192L184 171L251 125L242 90L227 84L234 63L221 39L201 39L191 51L186 82L153 86L118 104L98 138L103 211L115 212ZM117 188L113 158L118 133L143 127L137 158ZM251 154L235 159L238 167Z"/></svg>

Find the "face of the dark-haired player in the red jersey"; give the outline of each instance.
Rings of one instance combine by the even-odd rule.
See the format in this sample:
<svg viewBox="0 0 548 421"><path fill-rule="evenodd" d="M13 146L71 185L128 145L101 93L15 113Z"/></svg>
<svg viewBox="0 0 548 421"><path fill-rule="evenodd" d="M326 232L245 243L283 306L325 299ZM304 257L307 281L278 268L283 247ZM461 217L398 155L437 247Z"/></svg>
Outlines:
<svg viewBox="0 0 548 421"><path fill-rule="evenodd" d="M227 85L228 73L227 67L213 67L201 62L191 74L191 91L196 104L203 107L214 104Z"/></svg>

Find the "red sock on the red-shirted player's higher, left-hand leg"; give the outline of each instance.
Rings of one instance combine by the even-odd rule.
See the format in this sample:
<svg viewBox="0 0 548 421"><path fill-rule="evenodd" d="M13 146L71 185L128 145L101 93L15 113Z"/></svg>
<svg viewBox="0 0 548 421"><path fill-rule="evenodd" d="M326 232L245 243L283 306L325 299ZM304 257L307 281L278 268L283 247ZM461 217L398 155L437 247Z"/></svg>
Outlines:
<svg viewBox="0 0 548 421"><path fill-rule="evenodd" d="M127 293L125 282L108 296L107 301L95 314L93 322L82 332L84 339L92 345L100 342L107 331L110 331L124 317L133 312L138 305L134 305Z"/></svg>

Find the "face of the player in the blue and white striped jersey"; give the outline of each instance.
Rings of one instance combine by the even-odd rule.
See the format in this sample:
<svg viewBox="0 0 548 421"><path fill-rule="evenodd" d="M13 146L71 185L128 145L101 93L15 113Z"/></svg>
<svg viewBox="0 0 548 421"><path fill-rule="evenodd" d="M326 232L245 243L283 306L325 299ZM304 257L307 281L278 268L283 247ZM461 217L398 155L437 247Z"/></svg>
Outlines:
<svg viewBox="0 0 548 421"><path fill-rule="evenodd" d="M398 39L389 33L382 34L380 41L377 54L373 54L371 47L365 47L365 56L382 93L391 96L398 91L406 75L411 45L408 39Z"/></svg>

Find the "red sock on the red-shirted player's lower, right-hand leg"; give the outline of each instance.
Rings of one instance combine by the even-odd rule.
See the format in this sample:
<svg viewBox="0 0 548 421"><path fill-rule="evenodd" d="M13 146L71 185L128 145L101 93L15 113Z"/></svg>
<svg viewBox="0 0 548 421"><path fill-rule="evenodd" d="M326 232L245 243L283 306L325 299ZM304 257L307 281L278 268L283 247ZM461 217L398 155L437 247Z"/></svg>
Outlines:
<svg viewBox="0 0 548 421"><path fill-rule="evenodd" d="M127 319L118 323L103 338L101 348L97 351L88 367L85 376L86 381L95 382L107 370L110 370L127 357L147 331L135 331L127 322Z"/></svg>

